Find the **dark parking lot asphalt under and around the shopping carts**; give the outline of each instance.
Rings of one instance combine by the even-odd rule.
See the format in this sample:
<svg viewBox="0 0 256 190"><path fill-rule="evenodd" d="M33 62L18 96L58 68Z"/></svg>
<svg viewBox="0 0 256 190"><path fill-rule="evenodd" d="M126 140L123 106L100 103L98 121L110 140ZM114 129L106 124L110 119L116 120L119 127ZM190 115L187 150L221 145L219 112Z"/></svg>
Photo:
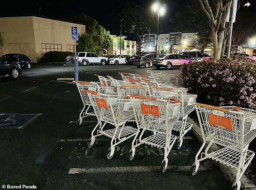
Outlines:
<svg viewBox="0 0 256 190"><path fill-rule="evenodd" d="M118 72L146 74L146 69L79 66L79 80L97 81L94 73L120 78ZM163 72L180 73L179 68ZM192 132L180 150L171 150L165 173L160 172L163 150L157 147L141 145L134 160L129 160L132 139L118 145L111 160L106 159L107 137L96 138L94 147L88 149L97 119L90 116L77 127L83 107L78 89L71 81L56 80L72 78L73 73L71 66L35 64L16 80L0 78L0 125L6 125L0 126L0 184L35 183L45 190L231 189L232 182L212 161L200 163L197 175L191 176L201 146ZM12 128L15 124L21 128ZM128 125L136 127L135 123Z"/></svg>

